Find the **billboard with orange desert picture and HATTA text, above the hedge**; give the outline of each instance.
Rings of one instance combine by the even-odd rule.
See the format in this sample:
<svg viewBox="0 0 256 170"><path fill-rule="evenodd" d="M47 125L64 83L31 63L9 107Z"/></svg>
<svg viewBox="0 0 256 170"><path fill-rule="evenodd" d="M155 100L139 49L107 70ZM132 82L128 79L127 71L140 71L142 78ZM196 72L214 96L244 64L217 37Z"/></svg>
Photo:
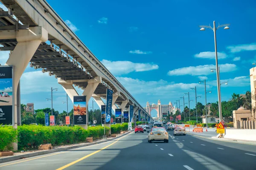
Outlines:
<svg viewBox="0 0 256 170"><path fill-rule="evenodd" d="M86 125L86 96L74 96L74 125Z"/></svg>

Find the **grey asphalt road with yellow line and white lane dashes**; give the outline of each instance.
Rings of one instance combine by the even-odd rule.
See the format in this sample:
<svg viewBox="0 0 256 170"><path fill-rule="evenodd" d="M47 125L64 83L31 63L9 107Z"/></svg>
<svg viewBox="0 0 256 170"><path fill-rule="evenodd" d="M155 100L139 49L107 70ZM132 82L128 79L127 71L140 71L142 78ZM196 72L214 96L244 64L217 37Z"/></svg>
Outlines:
<svg viewBox="0 0 256 170"><path fill-rule="evenodd" d="M253 170L256 145L173 136L148 143L148 133L130 133L102 144L0 164L0 170Z"/></svg>

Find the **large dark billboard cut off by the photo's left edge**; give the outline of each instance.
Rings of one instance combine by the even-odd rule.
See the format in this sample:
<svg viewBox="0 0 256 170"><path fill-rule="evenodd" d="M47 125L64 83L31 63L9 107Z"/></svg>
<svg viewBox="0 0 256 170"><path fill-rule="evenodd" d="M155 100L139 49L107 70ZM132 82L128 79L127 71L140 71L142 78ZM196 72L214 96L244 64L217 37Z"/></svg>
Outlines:
<svg viewBox="0 0 256 170"><path fill-rule="evenodd" d="M13 69L0 66L0 125L14 125Z"/></svg>

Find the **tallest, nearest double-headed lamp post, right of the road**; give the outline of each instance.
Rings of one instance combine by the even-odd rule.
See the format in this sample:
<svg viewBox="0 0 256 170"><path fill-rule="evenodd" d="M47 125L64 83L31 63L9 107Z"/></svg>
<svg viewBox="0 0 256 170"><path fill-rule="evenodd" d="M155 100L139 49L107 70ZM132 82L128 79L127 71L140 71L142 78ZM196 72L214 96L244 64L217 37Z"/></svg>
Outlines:
<svg viewBox="0 0 256 170"><path fill-rule="evenodd" d="M218 105L219 105L219 113L220 113L220 121L222 119L222 112L221 112L221 92L220 92L220 79L219 79L219 69L218 69L218 55L217 55L217 40L216 40L216 31L218 28L224 27L224 29L229 29L230 24L222 24L215 27L215 21L213 21L213 28L211 26L199 26L201 29L200 31L205 31L205 28L210 28L213 30L214 33L214 44L215 44L215 60L216 60L216 76L217 76L217 87L218 87Z"/></svg>

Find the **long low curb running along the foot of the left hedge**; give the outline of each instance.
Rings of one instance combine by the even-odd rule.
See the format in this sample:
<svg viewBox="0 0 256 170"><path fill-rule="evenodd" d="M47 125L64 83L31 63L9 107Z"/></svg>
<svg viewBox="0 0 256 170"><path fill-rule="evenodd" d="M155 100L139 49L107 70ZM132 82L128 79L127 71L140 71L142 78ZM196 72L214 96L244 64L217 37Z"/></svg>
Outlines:
<svg viewBox="0 0 256 170"><path fill-rule="evenodd" d="M93 144L100 144L100 143L112 141L114 139L118 139L118 138L120 138L122 136L125 136L128 133L131 133L133 131L134 130L131 130L131 131L129 131L127 133L124 133L124 134L122 134L120 136L117 136L115 138L106 139L106 140L103 140L103 141L92 142L92 143L87 143L87 144L80 144L80 145L76 145L76 146L60 147L60 148L56 148L56 149L52 149L52 150L44 150L44 151L39 151L39 152L34 152L34 153L25 153L23 155L17 155L17 156L11 156L11 157L6 157L6 158L0 158L0 163L9 162L9 161L15 161L15 160L18 160L18 159L24 159L24 158L29 158L29 157L33 157L33 156L45 155L45 154L48 154L48 153L55 153L55 152L66 151L66 150L75 149L75 148L78 148L78 147L90 146L90 145L93 145Z"/></svg>

